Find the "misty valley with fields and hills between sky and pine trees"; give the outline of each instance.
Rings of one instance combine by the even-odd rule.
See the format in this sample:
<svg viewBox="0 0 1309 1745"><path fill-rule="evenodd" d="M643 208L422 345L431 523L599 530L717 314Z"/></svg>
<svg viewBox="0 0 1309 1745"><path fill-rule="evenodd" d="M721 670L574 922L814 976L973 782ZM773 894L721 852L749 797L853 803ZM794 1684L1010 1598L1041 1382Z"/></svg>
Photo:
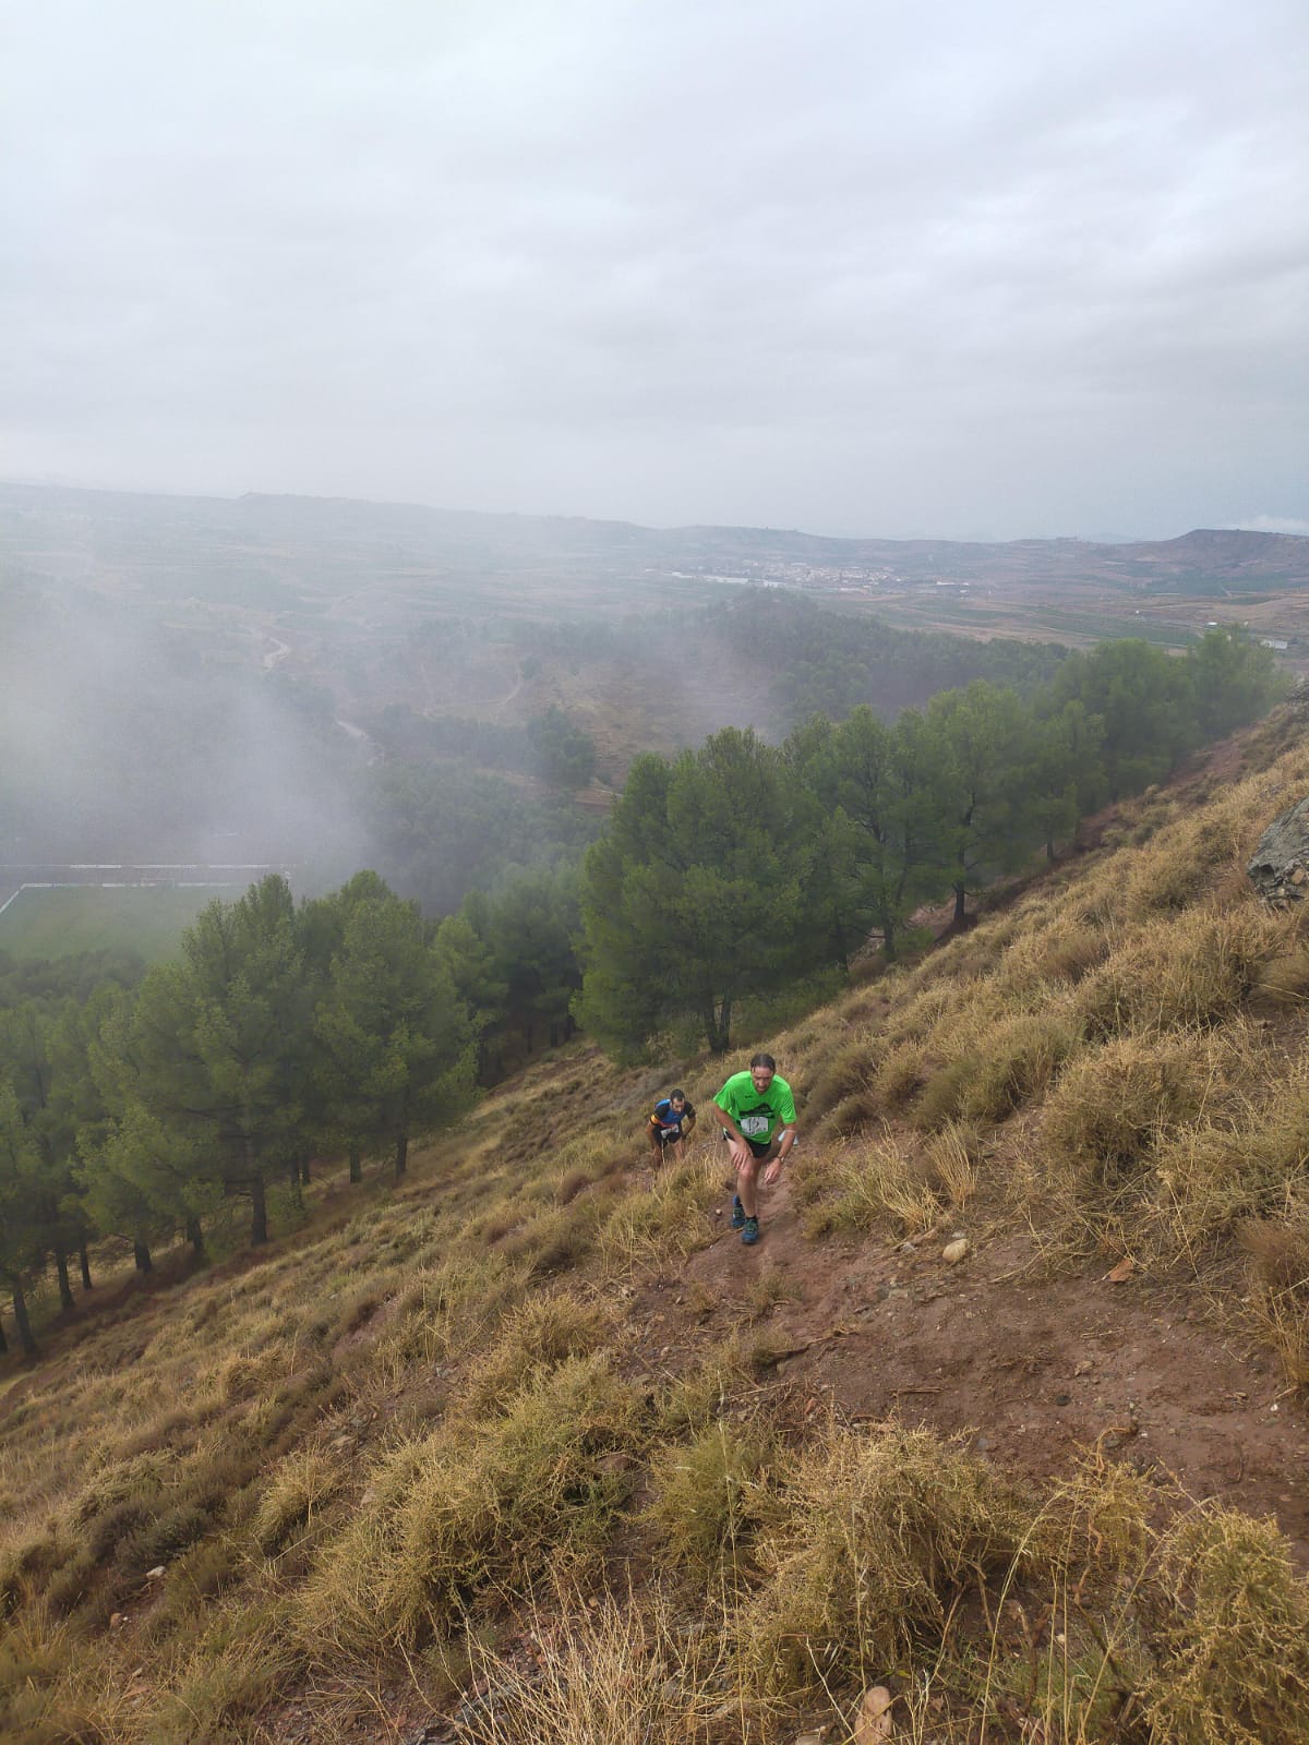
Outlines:
<svg viewBox="0 0 1309 1745"><path fill-rule="evenodd" d="M1180 649L1215 614L1295 667L1307 553L0 485L3 859L274 864L304 890L374 866L445 913L576 855L637 754L728 724L890 719L1103 635Z"/></svg>

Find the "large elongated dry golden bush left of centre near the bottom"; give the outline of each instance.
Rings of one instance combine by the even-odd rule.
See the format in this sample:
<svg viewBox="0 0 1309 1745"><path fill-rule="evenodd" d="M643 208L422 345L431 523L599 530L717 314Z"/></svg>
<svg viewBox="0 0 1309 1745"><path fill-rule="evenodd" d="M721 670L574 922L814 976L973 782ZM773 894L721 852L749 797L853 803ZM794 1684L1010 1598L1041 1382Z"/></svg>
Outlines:
<svg viewBox="0 0 1309 1745"><path fill-rule="evenodd" d="M492 1420L396 1450L300 1600L325 1661L449 1630L487 1593L522 1593L595 1557L632 1485L637 1393L571 1358Z"/></svg>

